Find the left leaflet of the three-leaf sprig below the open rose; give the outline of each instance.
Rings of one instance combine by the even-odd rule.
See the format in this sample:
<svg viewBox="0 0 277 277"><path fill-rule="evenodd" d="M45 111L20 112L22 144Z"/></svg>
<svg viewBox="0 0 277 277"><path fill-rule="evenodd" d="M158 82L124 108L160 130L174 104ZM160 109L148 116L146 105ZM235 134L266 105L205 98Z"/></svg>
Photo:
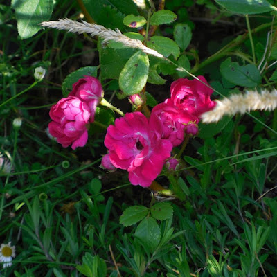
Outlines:
<svg viewBox="0 0 277 277"><path fill-rule="evenodd" d="M125 227L134 225L143 220L143 218L148 214L148 210L149 208L146 208L145 206L129 207L120 216L119 222Z"/></svg>

